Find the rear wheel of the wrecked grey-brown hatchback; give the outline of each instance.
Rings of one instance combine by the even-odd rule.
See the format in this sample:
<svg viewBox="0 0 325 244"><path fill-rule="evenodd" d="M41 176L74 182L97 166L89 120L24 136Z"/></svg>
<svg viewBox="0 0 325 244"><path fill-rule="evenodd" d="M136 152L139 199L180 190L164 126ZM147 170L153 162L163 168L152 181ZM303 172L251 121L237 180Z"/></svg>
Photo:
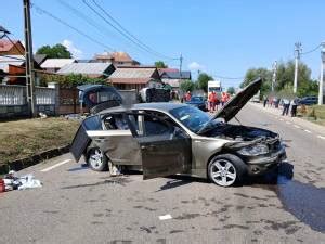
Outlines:
<svg viewBox="0 0 325 244"><path fill-rule="evenodd" d="M87 155L87 164L94 171L108 170L108 158L99 147L89 150Z"/></svg>

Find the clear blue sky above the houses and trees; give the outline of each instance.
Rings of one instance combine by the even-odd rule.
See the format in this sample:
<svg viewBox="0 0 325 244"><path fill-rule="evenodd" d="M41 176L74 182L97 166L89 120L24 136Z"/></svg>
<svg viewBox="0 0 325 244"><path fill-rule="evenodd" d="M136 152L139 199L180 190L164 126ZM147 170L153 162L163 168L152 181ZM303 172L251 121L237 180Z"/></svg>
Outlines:
<svg viewBox="0 0 325 244"><path fill-rule="evenodd" d="M24 40L23 0L0 1L0 25L12 33L13 39ZM110 20L101 10L95 9L106 22L84 1L93 9L96 8L95 1L151 51L144 51L126 39L107 23ZM221 78L224 87L238 86L248 68L271 69L274 61L294 59L297 41L302 43L302 52L308 52L325 40L324 0L31 2L35 3L31 8L35 51L43 44L63 43L78 59L91 59L104 51L126 51L142 64L162 60L171 67L179 67L180 62L170 57L182 54L183 70L191 69L194 78L198 70L212 75L214 79L227 77ZM62 22L88 35L91 40ZM302 55L301 61L312 69L313 78L320 76L320 49Z"/></svg>

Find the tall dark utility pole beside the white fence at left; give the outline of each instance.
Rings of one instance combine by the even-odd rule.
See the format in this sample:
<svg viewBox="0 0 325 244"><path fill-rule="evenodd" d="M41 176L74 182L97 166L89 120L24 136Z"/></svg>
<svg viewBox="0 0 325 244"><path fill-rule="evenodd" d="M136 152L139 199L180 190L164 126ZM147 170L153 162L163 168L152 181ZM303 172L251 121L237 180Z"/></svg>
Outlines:
<svg viewBox="0 0 325 244"><path fill-rule="evenodd" d="M35 74L34 74L34 56L32 56L31 24L30 24L30 0L23 0L23 3L24 3L27 104L28 104L30 117L36 117Z"/></svg>

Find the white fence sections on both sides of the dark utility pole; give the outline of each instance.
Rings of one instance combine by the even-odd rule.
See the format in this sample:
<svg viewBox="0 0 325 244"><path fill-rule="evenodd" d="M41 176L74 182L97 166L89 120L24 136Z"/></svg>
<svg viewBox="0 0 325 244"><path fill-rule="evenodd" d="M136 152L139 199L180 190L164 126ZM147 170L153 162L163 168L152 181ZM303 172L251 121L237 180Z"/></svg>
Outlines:
<svg viewBox="0 0 325 244"><path fill-rule="evenodd" d="M13 85L0 85L0 106L25 105L26 87ZM35 97L37 105L55 104L55 89L47 87L36 87Z"/></svg>

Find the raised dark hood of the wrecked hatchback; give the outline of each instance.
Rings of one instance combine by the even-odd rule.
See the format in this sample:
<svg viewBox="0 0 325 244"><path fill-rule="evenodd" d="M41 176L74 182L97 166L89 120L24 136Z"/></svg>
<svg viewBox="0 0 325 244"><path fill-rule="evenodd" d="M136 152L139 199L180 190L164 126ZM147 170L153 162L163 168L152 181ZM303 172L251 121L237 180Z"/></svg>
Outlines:
<svg viewBox="0 0 325 244"><path fill-rule="evenodd" d="M261 89L262 79L258 78L233 97L217 114L216 118L223 118L224 121L231 120L245 106L245 104Z"/></svg>

